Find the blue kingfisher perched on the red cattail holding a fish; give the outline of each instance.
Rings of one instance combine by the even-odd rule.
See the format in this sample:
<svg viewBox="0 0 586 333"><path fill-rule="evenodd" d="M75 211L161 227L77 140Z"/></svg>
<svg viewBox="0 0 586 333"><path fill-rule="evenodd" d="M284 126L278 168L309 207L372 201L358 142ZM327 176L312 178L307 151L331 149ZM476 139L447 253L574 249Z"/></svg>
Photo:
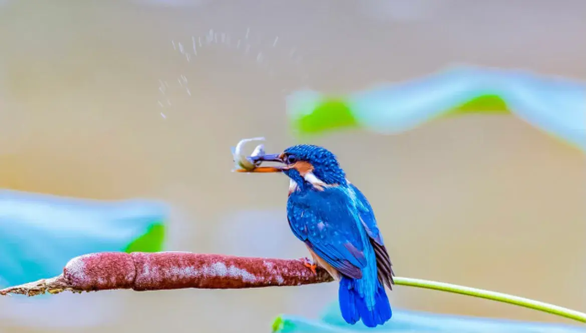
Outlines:
<svg viewBox="0 0 586 333"><path fill-rule="evenodd" d="M238 171L289 177L289 226L311 253L305 265L314 273L319 265L339 282L344 320L367 327L387 322L392 311L385 286L392 290L394 284L389 253L369 201L347 180L336 156L321 146L296 145L249 158L278 164Z"/></svg>

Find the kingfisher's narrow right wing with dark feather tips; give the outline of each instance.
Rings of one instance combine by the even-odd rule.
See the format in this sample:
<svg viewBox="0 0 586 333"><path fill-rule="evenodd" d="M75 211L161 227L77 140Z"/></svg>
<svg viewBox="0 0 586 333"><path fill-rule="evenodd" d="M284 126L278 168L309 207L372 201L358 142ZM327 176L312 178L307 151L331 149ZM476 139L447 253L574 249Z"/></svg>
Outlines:
<svg viewBox="0 0 586 333"><path fill-rule="evenodd" d="M364 194L362 194L356 186L350 184L350 189L352 189L356 195L357 207L360 219L362 220L362 225L364 225L367 234L372 240L370 243L374 248L374 255L376 256L379 280L381 283L386 284L389 289L393 289L393 287L391 287L394 284L393 264L391 263L389 253L384 246L383 236L380 234L379 227L376 224L374 211L370 206L370 202L368 202Z"/></svg>

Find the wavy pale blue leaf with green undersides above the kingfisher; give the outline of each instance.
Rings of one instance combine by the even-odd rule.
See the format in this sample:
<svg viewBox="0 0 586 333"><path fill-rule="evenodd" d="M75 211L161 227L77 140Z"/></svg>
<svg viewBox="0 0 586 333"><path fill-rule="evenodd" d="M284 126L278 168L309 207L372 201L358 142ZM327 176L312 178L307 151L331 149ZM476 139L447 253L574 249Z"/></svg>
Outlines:
<svg viewBox="0 0 586 333"><path fill-rule="evenodd" d="M389 134L432 119L469 113L512 113L586 151L586 83L528 71L461 67L345 96L302 90L287 97L301 135L343 128Z"/></svg>

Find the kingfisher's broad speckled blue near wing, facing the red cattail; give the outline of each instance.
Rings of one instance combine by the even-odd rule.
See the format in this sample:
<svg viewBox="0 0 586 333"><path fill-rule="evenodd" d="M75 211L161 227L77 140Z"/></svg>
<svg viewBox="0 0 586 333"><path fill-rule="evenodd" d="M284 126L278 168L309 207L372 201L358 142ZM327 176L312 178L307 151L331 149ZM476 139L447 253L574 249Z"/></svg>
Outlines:
<svg viewBox="0 0 586 333"><path fill-rule="evenodd" d="M293 194L287 204L291 230L329 265L353 279L366 267L360 222L349 198L335 188Z"/></svg>

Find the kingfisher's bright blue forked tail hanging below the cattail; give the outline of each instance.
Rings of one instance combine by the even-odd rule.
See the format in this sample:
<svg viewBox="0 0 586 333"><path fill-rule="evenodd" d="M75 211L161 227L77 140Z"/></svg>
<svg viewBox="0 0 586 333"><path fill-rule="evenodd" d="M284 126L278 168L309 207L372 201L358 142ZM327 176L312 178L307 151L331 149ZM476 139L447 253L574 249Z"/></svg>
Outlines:
<svg viewBox="0 0 586 333"><path fill-rule="evenodd" d="M362 318L362 322L367 327L376 327L387 322L393 312L384 286L379 281L376 281L374 304L371 306L367 304L367 297L364 296L364 292L360 287L362 286L355 279L342 277L342 280L340 280L338 300L344 320L353 325Z"/></svg>

